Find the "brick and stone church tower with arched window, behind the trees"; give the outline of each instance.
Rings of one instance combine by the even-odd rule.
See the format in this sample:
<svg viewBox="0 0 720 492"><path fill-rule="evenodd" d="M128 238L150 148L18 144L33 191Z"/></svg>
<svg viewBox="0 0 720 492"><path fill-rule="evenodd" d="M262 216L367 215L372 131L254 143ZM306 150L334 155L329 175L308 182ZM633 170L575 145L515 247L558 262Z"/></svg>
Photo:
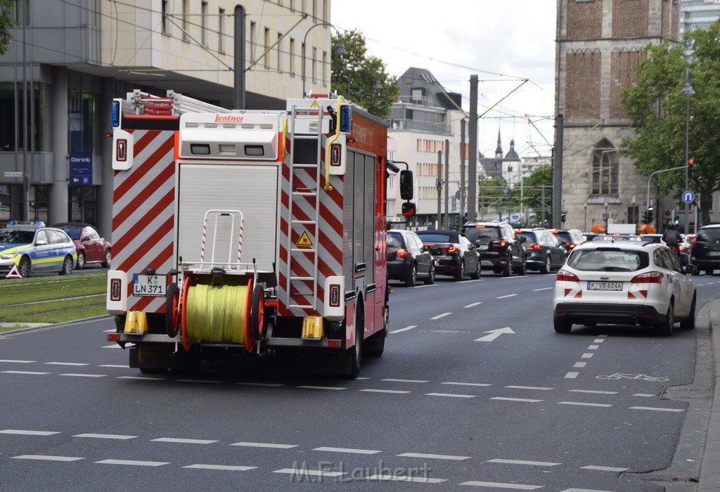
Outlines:
<svg viewBox="0 0 720 492"><path fill-rule="evenodd" d="M562 139L563 227L642 222L647 176L618 155L630 120L620 92L636 81L644 47L678 40L678 0L557 0L556 114Z"/></svg>

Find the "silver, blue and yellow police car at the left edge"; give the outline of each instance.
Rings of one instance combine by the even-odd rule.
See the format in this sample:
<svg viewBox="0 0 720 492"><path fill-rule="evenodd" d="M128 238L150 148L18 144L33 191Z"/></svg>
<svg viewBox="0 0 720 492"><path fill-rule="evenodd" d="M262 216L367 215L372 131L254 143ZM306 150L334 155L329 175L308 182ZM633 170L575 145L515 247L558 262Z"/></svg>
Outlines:
<svg viewBox="0 0 720 492"><path fill-rule="evenodd" d="M76 259L75 244L68 234L45 227L43 222L11 221L0 229L0 277L11 272L22 277L43 272L68 275Z"/></svg>

